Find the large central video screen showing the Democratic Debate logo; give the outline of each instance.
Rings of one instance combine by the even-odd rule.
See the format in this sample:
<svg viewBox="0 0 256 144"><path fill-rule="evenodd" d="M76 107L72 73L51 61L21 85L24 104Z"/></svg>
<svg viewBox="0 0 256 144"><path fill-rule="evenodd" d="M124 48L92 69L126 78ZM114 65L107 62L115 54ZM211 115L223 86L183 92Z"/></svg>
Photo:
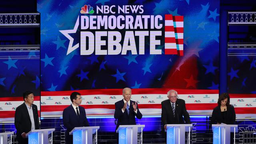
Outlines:
<svg viewBox="0 0 256 144"><path fill-rule="evenodd" d="M82 94L88 115L112 115L122 88L159 115L170 89L190 114L211 113L219 86L219 0L38 0L41 115Z"/></svg>

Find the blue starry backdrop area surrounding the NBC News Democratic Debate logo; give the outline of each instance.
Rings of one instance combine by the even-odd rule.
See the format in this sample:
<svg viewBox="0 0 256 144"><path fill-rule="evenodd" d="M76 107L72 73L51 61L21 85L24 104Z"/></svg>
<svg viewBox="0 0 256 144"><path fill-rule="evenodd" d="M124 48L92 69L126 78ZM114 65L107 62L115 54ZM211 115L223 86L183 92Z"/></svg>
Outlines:
<svg viewBox="0 0 256 144"><path fill-rule="evenodd" d="M85 4L94 10L96 5L143 5L143 15L184 16L184 56L150 55L147 39L144 55L80 56L80 48L66 55L69 40L59 30L72 30ZM219 5L219 0L38 0L42 91L163 88L173 71L184 82L175 88L218 89ZM164 26L161 30L157 48L164 52ZM70 36L73 46L80 42L80 26ZM190 63L196 67L184 68Z"/></svg>

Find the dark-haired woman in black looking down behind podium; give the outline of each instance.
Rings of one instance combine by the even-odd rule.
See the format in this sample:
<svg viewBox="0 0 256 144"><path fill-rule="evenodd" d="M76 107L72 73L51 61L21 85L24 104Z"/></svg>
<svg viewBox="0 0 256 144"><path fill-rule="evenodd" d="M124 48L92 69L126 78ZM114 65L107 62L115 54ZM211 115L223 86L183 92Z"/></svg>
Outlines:
<svg viewBox="0 0 256 144"><path fill-rule="evenodd" d="M222 93L218 99L218 106L212 111L212 124L235 124L236 113L234 106L230 105L228 93Z"/></svg>

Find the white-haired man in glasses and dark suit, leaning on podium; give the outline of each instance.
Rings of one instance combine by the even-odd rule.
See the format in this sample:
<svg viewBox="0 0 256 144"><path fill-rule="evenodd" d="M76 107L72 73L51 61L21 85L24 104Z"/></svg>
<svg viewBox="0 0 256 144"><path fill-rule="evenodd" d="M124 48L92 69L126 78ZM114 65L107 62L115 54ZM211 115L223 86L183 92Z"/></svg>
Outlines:
<svg viewBox="0 0 256 144"><path fill-rule="evenodd" d="M168 100L161 102L162 114L161 120L166 129L166 124L190 124L189 114L186 110L185 101L177 98L178 93L176 90L169 90L167 93ZM184 116L184 120L183 117Z"/></svg>

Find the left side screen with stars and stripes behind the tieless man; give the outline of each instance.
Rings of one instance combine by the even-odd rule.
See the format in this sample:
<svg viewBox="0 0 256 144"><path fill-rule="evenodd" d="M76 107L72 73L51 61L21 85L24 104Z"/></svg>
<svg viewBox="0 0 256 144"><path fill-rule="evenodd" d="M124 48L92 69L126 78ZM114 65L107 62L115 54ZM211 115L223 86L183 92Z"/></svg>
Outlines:
<svg viewBox="0 0 256 144"><path fill-rule="evenodd" d="M15 110L24 102L25 91L34 93L34 104L40 116L40 51L32 49L1 48L0 121L14 121Z"/></svg>

